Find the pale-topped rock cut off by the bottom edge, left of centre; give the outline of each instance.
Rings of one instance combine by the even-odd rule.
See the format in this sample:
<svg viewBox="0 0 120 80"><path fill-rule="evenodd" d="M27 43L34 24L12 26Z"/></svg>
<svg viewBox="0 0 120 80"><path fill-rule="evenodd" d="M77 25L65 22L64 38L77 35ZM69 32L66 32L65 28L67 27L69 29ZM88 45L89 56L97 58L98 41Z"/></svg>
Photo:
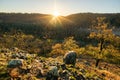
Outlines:
<svg viewBox="0 0 120 80"><path fill-rule="evenodd" d="M51 66L46 76L46 80L58 80L58 69L56 66Z"/></svg>

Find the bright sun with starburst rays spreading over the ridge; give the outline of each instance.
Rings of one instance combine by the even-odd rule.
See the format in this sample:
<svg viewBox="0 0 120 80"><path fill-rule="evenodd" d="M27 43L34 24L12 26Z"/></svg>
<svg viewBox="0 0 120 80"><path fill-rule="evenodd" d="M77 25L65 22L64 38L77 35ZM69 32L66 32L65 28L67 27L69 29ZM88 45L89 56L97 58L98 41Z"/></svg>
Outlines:
<svg viewBox="0 0 120 80"><path fill-rule="evenodd" d="M73 21L71 21L69 18L61 16L56 0L54 0L54 10L53 13L51 14L51 18L49 18L48 23L46 24L47 27L64 27L66 23L69 24L75 24Z"/></svg>

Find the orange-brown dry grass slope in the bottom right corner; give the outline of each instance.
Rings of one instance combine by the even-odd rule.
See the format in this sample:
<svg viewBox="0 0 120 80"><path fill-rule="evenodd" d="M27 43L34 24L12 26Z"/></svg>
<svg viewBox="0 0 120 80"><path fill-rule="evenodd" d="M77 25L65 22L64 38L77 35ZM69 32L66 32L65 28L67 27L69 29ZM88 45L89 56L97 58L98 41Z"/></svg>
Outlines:
<svg viewBox="0 0 120 80"><path fill-rule="evenodd" d="M90 65L86 65L86 62ZM95 59L90 56L82 56L77 60L77 67L85 69L89 75L97 75L103 80L120 80L120 66L101 61L99 67L95 67Z"/></svg>

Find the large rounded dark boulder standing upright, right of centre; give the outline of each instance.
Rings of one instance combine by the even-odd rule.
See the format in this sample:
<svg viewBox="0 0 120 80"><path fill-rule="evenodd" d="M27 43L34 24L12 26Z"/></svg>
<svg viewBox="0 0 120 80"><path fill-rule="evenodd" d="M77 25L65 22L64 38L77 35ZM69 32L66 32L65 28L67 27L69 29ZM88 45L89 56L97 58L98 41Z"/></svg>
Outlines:
<svg viewBox="0 0 120 80"><path fill-rule="evenodd" d="M64 62L65 64L75 65L75 63L76 63L76 57L77 57L76 52L74 52L74 51L69 51L68 53L66 53L66 54L64 55L63 62Z"/></svg>

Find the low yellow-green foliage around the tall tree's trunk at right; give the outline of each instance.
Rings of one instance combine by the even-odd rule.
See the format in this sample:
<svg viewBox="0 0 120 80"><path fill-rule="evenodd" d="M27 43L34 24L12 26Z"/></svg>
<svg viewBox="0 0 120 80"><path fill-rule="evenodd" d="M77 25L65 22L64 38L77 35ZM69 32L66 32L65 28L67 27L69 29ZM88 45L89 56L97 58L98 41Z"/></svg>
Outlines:
<svg viewBox="0 0 120 80"><path fill-rule="evenodd" d="M95 47L92 45L87 45L85 47L85 54L90 55L94 58L102 59L109 63L120 64L120 51L117 50L114 46L108 45L106 49L103 49L101 54L99 53L99 47Z"/></svg>

